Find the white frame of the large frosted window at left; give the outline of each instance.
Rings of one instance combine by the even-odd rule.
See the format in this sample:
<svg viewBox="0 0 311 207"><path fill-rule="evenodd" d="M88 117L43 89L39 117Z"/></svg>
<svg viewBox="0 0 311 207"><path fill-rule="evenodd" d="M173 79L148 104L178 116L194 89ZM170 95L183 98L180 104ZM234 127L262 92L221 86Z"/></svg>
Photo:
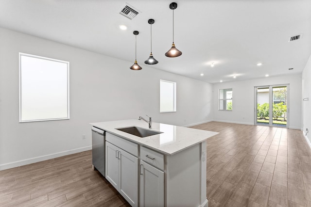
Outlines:
<svg viewBox="0 0 311 207"><path fill-rule="evenodd" d="M32 54L27 54L27 53L22 53L19 52L18 54L19 56L19 123L23 123L23 122L38 122L38 121L51 121L51 120L68 120L69 117L69 62L68 61L62 61L62 60L57 60L57 59L52 59L52 58L47 58L47 57L43 57L43 56L38 56L38 55L32 55ZM31 58L37 58L37 59L42 59L42 60L47 60L47 61L53 61L53 62L58 62L58 63L62 63L62 64L66 64L66 79L67 79L67 116L66 117L60 117L60 118L43 118L43 119L23 119L22 118L22 56L25 57L31 57Z"/></svg>

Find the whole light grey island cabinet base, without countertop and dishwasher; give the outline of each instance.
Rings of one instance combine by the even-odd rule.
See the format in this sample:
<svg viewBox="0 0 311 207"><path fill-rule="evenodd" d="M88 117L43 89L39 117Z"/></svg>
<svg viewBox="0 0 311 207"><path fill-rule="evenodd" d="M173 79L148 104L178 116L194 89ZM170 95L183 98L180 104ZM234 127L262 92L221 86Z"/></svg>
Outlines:
<svg viewBox="0 0 311 207"><path fill-rule="evenodd" d="M133 207L207 207L206 149L167 155L106 132L105 177Z"/></svg>

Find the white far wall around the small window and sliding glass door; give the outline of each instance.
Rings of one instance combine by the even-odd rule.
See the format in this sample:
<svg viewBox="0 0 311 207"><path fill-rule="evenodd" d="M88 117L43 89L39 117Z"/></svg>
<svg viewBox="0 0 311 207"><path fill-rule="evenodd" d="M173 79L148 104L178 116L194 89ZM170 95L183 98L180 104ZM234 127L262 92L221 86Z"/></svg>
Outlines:
<svg viewBox="0 0 311 207"><path fill-rule="evenodd" d="M289 127L301 129L301 74L255 80L223 82L213 85L213 117L215 121L254 124L255 86L289 84ZM232 88L232 111L218 111L219 89Z"/></svg>

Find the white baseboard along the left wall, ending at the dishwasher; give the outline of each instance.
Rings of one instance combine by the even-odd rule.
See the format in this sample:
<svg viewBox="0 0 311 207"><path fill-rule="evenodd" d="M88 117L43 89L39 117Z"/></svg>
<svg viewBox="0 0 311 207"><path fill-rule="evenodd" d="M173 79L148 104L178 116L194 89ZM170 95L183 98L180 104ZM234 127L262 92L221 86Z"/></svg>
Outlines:
<svg viewBox="0 0 311 207"><path fill-rule="evenodd" d="M71 155L71 154L78 153L78 152L84 152L84 151L91 150L91 149L92 149L92 146L86 146L86 147L71 149L71 150L67 150L67 151L63 151L63 152L57 152L57 153L53 153L50 155L43 155L40 157L23 159L23 160L18 160L15 162L9 162L9 163L5 163L5 164L1 164L0 170L6 170L6 169L14 168L14 167L19 167L22 165L32 164L35 162L40 162L40 161L44 161L44 160L48 160L48 159L58 158L58 157Z"/></svg>

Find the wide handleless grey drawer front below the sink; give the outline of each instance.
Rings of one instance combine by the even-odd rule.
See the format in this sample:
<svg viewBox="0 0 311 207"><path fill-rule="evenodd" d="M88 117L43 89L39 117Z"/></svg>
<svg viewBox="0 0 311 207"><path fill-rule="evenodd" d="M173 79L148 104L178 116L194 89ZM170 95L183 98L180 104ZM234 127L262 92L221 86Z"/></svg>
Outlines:
<svg viewBox="0 0 311 207"><path fill-rule="evenodd" d="M106 141L112 143L124 151L138 157L138 144L127 141L121 137L106 132Z"/></svg>

